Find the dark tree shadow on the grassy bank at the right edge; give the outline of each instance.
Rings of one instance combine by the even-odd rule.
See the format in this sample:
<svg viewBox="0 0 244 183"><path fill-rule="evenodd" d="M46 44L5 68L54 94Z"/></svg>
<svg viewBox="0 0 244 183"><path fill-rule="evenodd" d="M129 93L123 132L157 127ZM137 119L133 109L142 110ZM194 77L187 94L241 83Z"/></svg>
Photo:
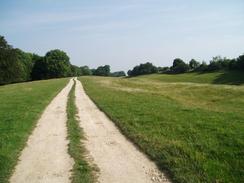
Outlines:
<svg viewBox="0 0 244 183"><path fill-rule="evenodd" d="M244 72L243 71L229 71L224 72L213 80L213 84L230 84L241 85L244 84Z"/></svg>

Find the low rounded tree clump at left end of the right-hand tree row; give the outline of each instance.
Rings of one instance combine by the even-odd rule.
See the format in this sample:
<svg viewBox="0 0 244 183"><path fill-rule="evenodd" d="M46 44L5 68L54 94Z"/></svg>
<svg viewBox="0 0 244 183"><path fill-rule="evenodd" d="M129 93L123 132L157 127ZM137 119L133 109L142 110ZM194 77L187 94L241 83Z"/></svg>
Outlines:
<svg viewBox="0 0 244 183"><path fill-rule="evenodd" d="M143 75L143 74L152 74L152 73L157 73L158 68L154 66L152 63L147 62L144 64L140 64L135 66L132 70L129 70L127 74L129 76L138 76L138 75Z"/></svg>

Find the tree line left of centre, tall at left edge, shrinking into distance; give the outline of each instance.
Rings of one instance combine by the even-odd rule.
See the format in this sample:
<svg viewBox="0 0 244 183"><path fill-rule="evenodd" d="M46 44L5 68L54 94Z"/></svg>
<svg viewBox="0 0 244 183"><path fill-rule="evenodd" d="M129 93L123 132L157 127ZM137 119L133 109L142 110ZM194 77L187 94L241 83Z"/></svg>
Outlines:
<svg viewBox="0 0 244 183"><path fill-rule="evenodd" d="M50 50L45 56L26 53L18 48L13 48L3 36L0 36L1 85L82 75L119 77L125 76L125 73L124 71L111 73L109 65L99 66L97 69L72 65L69 56L59 49Z"/></svg>

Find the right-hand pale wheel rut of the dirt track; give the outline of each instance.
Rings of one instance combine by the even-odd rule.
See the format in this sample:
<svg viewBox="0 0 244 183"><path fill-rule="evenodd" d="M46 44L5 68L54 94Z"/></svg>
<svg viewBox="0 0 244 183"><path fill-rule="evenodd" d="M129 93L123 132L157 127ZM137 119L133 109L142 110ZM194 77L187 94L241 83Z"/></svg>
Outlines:
<svg viewBox="0 0 244 183"><path fill-rule="evenodd" d="M101 183L169 182L156 165L129 142L100 111L76 80L76 106L83 128L85 147L100 170Z"/></svg>

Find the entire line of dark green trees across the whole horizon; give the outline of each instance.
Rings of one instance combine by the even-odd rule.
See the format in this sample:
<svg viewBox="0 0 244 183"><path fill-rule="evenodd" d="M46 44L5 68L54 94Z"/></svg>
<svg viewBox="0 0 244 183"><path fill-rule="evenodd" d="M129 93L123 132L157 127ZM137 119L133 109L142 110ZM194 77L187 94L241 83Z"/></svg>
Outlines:
<svg viewBox="0 0 244 183"><path fill-rule="evenodd" d="M186 63L180 58L174 59L171 67L156 67L147 62L135 66L127 74L128 76L138 76L152 73L178 74L219 70L244 70L244 54L234 59L213 57L209 64L204 61L198 62L195 59ZM124 71L111 72L109 65L99 66L96 69L72 65L69 56L59 49L50 50L44 56L26 53L18 48L13 48L3 36L0 36L0 85L84 75L126 76Z"/></svg>

